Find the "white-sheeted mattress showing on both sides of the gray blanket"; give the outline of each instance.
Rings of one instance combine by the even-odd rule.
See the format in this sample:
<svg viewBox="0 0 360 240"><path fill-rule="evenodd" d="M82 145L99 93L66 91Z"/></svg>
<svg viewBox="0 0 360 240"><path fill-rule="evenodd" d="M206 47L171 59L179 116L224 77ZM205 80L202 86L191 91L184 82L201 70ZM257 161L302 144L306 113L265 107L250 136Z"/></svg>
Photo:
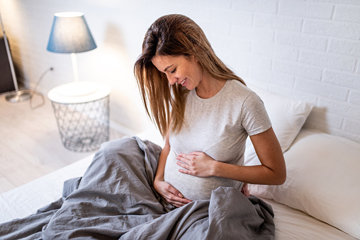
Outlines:
<svg viewBox="0 0 360 240"><path fill-rule="evenodd" d="M63 182L82 176L94 154L0 195L0 222L26 217L60 198ZM263 198L274 209L276 239L355 239L304 212Z"/></svg>

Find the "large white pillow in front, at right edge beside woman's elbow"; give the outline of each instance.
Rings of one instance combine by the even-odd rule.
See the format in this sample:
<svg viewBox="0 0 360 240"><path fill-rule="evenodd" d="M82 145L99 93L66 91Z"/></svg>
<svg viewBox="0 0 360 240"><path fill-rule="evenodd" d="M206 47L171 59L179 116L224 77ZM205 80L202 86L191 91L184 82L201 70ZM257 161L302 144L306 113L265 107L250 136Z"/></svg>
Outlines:
<svg viewBox="0 0 360 240"><path fill-rule="evenodd" d="M249 185L252 195L308 213L360 239L360 144L301 130L284 154L283 185Z"/></svg>

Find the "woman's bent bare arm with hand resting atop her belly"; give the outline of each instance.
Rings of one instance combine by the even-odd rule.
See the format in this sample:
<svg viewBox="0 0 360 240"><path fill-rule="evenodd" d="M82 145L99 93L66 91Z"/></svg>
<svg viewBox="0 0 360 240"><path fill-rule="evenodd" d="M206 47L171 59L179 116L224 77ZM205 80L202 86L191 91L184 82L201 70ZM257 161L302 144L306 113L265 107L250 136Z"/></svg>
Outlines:
<svg viewBox="0 0 360 240"><path fill-rule="evenodd" d="M261 165L237 166L214 161L203 152L179 154L181 173L193 176L218 176L253 184L281 185L286 180L286 166L278 139L272 127L250 137Z"/></svg>

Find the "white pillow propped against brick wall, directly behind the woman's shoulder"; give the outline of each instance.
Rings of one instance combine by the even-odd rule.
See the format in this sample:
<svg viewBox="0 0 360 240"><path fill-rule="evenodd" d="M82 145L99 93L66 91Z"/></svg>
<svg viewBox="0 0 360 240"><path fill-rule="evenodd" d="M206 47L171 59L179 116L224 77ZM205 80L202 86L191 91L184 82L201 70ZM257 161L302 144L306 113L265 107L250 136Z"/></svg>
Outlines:
<svg viewBox="0 0 360 240"><path fill-rule="evenodd" d="M272 127L279 140L283 152L290 147L301 127L308 118L313 105L302 101L286 98L255 86L249 86L264 102ZM244 154L245 165L260 164L252 142L247 138Z"/></svg>

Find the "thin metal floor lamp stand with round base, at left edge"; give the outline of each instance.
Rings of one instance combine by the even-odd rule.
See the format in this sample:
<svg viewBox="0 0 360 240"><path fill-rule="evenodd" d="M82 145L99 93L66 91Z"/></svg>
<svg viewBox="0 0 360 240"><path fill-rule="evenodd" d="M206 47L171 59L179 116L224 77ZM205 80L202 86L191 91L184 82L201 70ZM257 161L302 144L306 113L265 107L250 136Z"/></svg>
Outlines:
<svg viewBox="0 0 360 240"><path fill-rule="evenodd" d="M27 100L30 99L31 93L30 93L30 90L28 90L28 89L18 90L18 81L16 79L15 69L13 68L13 59L11 58L9 42L8 42L8 39L6 38L4 25L3 25L2 18L1 18L1 13L0 13L0 23L1 23L1 29L3 30L4 42L5 42L5 47L6 47L6 53L7 53L8 58L9 58L11 74L13 76L13 85L15 86L15 93L7 94L5 96L6 101L9 101L11 103L20 103L20 102L23 102L23 101L27 101Z"/></svg>

